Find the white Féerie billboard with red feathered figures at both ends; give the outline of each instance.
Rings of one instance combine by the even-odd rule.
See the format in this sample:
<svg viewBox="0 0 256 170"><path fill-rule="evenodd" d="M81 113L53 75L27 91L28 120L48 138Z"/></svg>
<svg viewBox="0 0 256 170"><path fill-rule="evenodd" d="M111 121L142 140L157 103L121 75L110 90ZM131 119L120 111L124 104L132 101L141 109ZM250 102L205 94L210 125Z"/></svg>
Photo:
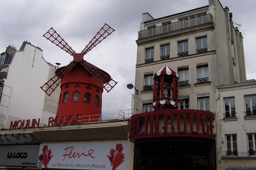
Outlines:
<svg viewBox="0 0 256 170"><path fill-rule="evenodd" d="M127 142L42 144L38 169L125 170Z"/></svg>

